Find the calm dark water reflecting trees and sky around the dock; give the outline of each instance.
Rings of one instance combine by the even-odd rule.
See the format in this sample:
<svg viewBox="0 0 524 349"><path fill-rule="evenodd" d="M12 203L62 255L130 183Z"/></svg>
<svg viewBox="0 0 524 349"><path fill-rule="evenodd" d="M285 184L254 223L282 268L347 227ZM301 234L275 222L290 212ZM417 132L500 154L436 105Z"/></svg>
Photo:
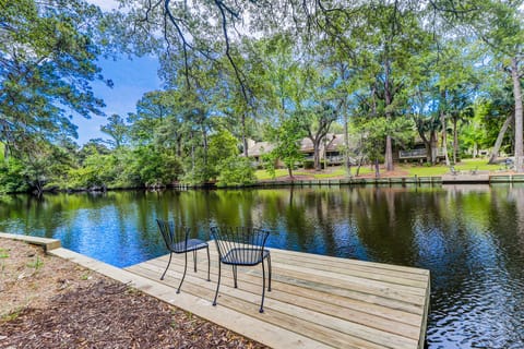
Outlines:
<svg viewBox="0 0 524 349"><path fill-rule="evenodd" d="M524 348L524 188L315 188L14 196L0 231L116 266L165 253L155 218L274 229L273 246L431 270L430 348Z"/></svg>

